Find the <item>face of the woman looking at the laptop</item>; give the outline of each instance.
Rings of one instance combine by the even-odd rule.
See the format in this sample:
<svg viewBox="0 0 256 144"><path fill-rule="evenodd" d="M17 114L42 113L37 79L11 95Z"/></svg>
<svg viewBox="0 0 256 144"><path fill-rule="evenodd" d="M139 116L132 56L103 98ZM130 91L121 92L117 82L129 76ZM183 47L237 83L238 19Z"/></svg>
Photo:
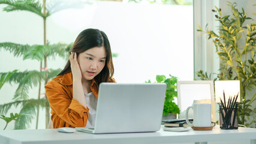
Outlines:
<svg viewBox="0 0 256 144"><path fill-rule="evenodd" d="M106 63L105 47L93 47L80 53L78 64L81 68L82 77L85 80L92 80L104 68Z"/></svg>

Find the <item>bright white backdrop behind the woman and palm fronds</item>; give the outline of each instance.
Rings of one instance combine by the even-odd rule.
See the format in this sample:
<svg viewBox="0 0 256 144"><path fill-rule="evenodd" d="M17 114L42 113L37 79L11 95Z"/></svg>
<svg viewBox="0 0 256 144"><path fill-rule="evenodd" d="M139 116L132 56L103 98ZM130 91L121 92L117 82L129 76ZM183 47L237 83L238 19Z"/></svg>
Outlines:
<svg viewBox="0 0 256 144"><path fill-rule="evenodd" d="M25 11L6 13L0 5L0 42L43 44L43 20ZM114 58L117 82L143 83L156 74L172 74L180 80L194 77L192 6L123 4L95 2L82 9L59 11L47 19L47 39L50 43L72 43L84 29L98 28L106 32ZM49 68L63 68L61 58L49 61ZM38 70L39 62L22 61L0 50L0 71L14 69ZM0 91L0 104L8 103L17 85L5 84ZM37 98L37 89L29 97ZM42 89L44 90L43 86ZM19 113L19 109L10 112ZM9 114L7 114L8 116ZM40 111L39 128L44 128L44 113ZM0 119L0 130L5 122ZM13 123L7 129L13 129ZM31 127L35 128L35 120Z"/></svg>

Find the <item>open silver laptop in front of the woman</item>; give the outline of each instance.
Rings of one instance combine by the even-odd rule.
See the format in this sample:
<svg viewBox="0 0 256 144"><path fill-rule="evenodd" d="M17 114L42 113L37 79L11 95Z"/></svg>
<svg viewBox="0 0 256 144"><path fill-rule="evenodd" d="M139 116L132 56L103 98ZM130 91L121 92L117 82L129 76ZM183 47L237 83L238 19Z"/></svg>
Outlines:
<svg viewBox="0 0 256 144"><path fill-rule="evenodd" d="M100 83L94 128L87 133L139 133L160 130L165 83Z"/></svg>

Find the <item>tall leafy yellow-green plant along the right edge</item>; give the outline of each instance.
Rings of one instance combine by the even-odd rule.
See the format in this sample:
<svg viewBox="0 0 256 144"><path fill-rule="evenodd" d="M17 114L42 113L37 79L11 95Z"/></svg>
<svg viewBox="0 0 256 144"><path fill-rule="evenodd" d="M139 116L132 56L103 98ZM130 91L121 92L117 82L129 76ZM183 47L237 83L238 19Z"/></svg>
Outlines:
<svg viewBox="0 0 256 144"><path fill-rule="evenodd" d="M218 33L209 30L207 25L205 31L200 26L198 31L207 34L215 44L221 59L218 79L240 80L239 124L255 127L256 116L250 122L249 116L256 112L256 108L252 107L256 100L256 23L245 25L251 18L246 16L243 8L242 11L237 10L236 2L228 2L228 6L232 10L231 16L222 16L218 7L212 10L221 24ZM203 71L197 74L201 79L210 79Z"/></svg>

